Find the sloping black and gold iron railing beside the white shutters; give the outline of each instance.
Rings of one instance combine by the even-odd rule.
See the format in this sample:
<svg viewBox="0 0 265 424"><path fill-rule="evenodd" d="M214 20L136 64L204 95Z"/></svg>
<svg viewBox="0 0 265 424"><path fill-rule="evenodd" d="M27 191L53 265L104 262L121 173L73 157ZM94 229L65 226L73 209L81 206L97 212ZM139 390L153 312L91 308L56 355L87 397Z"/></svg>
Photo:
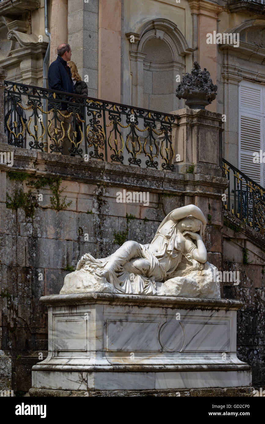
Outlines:
<svg viewBox="0 0 265 424"><path fill-rule="evenodd" d="M223 201L224 208L264 236L265 188L248 178L225 159L223 159L223 169L228 179L228 189Z"/></svg>

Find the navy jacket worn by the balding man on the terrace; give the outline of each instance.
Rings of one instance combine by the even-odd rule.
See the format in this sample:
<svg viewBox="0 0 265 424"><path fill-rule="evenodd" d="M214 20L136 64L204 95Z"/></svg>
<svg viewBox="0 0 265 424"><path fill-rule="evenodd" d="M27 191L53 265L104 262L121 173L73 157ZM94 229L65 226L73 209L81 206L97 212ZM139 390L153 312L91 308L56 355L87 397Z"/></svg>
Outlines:
<svg viewBox="0 0 265 424"><path fill-rule="evenodd" d="M75 92L70 67L60 56L57 56L57 59L49 67L48 86L51 90L59 90L67 93ZM50 94L49 97L51 96ZM67 109L67 103L62 103L62 109Z"/></svg>

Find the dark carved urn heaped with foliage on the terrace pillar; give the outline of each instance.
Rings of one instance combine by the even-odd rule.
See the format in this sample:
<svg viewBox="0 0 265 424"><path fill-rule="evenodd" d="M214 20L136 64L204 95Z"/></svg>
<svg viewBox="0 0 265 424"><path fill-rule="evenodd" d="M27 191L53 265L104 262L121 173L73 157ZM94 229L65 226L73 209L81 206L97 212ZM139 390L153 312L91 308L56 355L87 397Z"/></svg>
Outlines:
<svg viewBox="0 0 265 424"><path fill-rule="evenodd" d="M202 71L198 62L194 62L191 73L186 73L178 88L176 96L186 99L186 106L190 109L205 109L215 98L217 85L214 85L209 71Z"/></svg>

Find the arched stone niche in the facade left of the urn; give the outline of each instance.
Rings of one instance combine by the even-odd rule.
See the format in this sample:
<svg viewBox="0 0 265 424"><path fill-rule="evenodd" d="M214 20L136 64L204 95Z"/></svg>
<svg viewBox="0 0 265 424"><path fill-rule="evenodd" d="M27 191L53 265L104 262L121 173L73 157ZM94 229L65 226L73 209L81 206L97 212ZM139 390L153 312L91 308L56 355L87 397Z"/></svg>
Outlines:
<svg viewBox="0 0 265 424"><path fill-rule="evenodd" d="M193 49L177 25L155 19L147 22L140 33L126 35L130 41L132 104L161 112L179 109L176 75L181 78L185 72L185 56Z"/></svg>

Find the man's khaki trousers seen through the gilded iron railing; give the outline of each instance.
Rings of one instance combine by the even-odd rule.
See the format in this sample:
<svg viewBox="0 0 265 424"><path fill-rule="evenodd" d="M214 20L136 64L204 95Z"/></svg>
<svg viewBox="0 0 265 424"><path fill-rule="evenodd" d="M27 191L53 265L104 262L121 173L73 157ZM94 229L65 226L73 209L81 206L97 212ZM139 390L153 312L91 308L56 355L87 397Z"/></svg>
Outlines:
<svg viewBox="0 0 265 424"><path fill-rule="evenodd" d="M67 110L61 110L60 112L63 115L66 115L66 116L69 115L69 112ZM59 112L57 112L57 115L56 115L57 134L55 132L55 122L54 122L55 121L55 118L52 119L53 114L54 114L54 112L50 112L49 115L48 115L48 119L51 120L51 128L50 128L51 137L54 137L56 139L55 136L57 135L57 140L59 140L60 138L62 138L62 129L61 129L61 125L60 125L60 122L62 122L63 123L62 126L63 126L64 131L65 131L65 135L64 135L63 139L60 141L60 146L63 147L62 154L69 156L70 155L70 152L69 152L68 149L72 146L72 144L71 144L71 142L69 141L69 139L67 137L67 132L68 132L69 124L70 124L69 137L70 137L70 139L73 139L73 123L72 123L73 114L71 114L69 117L65 117L65 116L62 116ZM50 144L55 144L55 142L54 142L54 140L50 139L48 144L49 145ZM56 152L56 151L55 152L51 152L50 147L48 148L48 152L49 153L57 153L58 154L58 152Z"/></svg>

